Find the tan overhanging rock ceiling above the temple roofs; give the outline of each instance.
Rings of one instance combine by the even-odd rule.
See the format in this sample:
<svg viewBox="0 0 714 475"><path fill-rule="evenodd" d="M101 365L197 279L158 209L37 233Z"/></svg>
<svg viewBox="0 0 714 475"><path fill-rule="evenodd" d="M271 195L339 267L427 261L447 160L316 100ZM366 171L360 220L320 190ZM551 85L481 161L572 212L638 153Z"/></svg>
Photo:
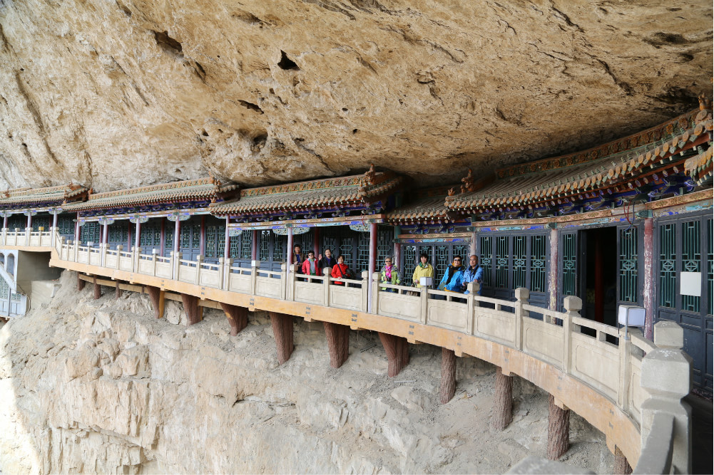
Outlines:
<svg viewBox="0 0 714 475"><path fill-rule="evenodd" d="M711 16L707 0L1 0L0 187L369 163L445 183L693 108Z"/></svg>

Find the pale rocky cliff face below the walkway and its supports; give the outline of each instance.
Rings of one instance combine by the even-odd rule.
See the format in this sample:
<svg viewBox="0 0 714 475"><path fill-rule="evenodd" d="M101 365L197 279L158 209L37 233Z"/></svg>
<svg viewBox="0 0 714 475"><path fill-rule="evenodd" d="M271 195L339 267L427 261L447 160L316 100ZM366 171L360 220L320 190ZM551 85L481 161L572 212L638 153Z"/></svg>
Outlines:
<svg viewBox="0 0 714 475"><path fill-rule="evenodd" d="M545 454L546 394L515 377L513 423L491 431L494 369L477 359L458 359L442 405L438 348L388 379L376 335L352 332L331 369L322 325L301 323L278 366L266 315L230 337L218 312L187 328L72 277L1 327L1 473L503 473ZM573 414L570 437L568 464L611 473L603 434Z"/></svg>

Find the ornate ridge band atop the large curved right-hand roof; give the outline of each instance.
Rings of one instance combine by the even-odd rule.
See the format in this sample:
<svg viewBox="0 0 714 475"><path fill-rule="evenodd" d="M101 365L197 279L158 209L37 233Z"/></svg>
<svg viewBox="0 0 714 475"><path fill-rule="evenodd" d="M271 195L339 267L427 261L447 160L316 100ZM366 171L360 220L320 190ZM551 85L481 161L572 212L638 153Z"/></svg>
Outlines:
<svg viewBox="0 0 714 475"><path fill-rule="evenodd" d="M703 107L702 100L700 100L700 108L701 107ZM523 175L525 173L553 170L555 168L564 168L570 165L588 163L592 160L605 158L615 153L627 152L633 148L668 138L677 132L685 131L688 128L694 127L698 122L697 118L700 110L702 109L689 111L681 116L671 119L670 121L661 123L658 126L650 127L644 131L633 133L629 136L618 138L614 141L597 145L592 148L499 168L496 170L496 175L498 175L498 178L507 178L509 176Z"/></svg>

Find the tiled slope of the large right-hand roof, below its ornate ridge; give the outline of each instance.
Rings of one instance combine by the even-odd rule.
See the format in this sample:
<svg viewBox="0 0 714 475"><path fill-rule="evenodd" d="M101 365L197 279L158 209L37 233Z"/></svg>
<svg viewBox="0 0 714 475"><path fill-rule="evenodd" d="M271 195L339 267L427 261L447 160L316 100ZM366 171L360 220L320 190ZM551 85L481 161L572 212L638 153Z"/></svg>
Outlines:
<svg viewBox="0 0 714 475"><path fill-rule="evenodd" d="M475 193L461 193L446 198L446 207L450 210L483 210L493 207L531 205L543 203L548 200L593 193L608 188L618 183L638 180L645 176L650 169L658 168L678 159L675 154L695 147L707 140L707 131L711 130L712 120L710 113L701 111L693 125L690 121L681 123L690 126L680 133L672 133L659 141L638 145L604 158L597 158L583 163L565 165L559 168L545 168L540 170L530 165L523 165L528 173L511 176L501 173L493 184ZM693 113L683 117L693 117ZM674 129L672 129L674 131ZM573 155L567 155L573 156ZM560 163L560 158L550 159L553 163ZM546 160L547 161L547 160ZM519 169L520 170L520 169Z"/></svg>

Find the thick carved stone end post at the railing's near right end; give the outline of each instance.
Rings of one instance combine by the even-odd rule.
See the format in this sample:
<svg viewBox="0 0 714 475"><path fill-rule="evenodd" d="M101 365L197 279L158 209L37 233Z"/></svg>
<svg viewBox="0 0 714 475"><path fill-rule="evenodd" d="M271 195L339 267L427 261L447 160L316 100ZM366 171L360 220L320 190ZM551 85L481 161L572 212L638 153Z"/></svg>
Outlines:
<svg viewBox="0 0 714 475"><path fill-rule="evenodd" d="M690 474L692 473L691 408L682 402L689 394L692 359L682 351L684 330L675 322L662 321L654 325L657 349L649 352L640 367L640 386L650 395L642 403L640 422L641 446L651 436L668 436L653 433L656 416L668 415L674 419L672 431L672 467L650 467L649 457L643 453L635 473ZM656 471L654 471L656 470ZM663 470L663 471L660 471Z"/></svg>

